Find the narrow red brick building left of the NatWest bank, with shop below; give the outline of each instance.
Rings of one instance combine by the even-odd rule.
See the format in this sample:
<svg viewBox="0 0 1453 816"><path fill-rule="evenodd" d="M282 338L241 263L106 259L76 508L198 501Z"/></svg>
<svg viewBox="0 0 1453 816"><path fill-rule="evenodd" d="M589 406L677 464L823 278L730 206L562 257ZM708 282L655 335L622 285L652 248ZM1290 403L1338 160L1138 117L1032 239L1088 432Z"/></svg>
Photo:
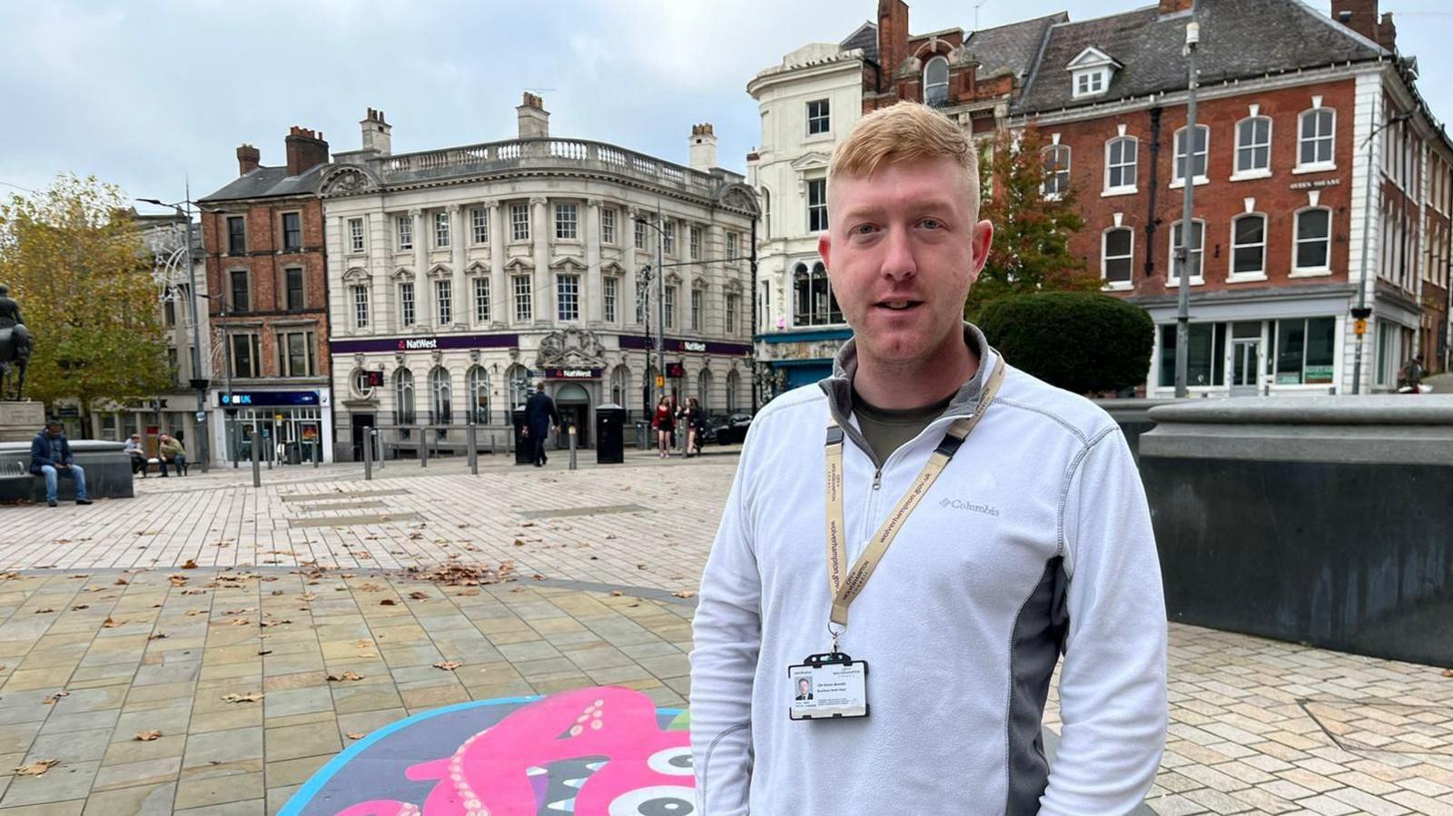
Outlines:
<svg viewBox="0 0 1453 816"><path fill-rule="evenodd" d="M266 167L256 147L237 148L238 179L199 200L206 248L215 369L209 399L225 459L331 460L328 283L323 171L328 142L294 126L286 164ZM225 354L225 357L224 357ZM231 386L227 386L227 379Z"/></svg>

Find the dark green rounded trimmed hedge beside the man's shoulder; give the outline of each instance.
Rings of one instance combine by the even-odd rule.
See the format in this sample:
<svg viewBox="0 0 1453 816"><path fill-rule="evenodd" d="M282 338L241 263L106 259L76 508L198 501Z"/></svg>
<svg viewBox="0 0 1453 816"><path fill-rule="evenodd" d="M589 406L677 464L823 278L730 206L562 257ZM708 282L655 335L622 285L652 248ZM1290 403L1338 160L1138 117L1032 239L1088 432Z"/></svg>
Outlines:
<svg viewBox="0 0 1453 816"><path fill-rule="evenodd" d="M1000 298L978 327L1013 366L1075 393L1144 383L1155 344L1145 309L1098 292Z"/></svg>

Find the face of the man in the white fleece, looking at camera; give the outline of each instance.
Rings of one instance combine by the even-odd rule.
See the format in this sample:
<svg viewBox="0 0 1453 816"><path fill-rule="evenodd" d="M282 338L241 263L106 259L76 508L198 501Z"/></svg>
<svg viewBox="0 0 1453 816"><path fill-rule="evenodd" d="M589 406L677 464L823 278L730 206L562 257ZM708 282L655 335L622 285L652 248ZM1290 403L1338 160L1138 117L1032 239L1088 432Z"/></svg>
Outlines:
<svg viewBox="0 0 1453 816"><path fill-rule="evenodd" d="M949 158L834 179L818 253L862 354L921 362L962 331L994 235L962 179Z"/></svg>

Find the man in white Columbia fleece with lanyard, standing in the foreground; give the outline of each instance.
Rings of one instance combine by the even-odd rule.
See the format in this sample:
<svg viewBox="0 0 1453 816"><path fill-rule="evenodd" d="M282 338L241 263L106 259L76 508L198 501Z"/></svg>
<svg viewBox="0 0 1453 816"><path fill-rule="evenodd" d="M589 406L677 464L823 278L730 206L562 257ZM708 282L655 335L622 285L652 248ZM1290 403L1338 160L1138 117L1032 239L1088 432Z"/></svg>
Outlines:
<svg viewBox="0 0 1453 816"><path fill-rule="evenodd" d="M1155 777L1165 607L1139 475L1104 411L963 322L992 240L978 202L972 142L926 106L834 151L818 251L854 337L741 453L693 623L697 813L1107 816ZM793 666L812 711L783 704Z"/></svg>

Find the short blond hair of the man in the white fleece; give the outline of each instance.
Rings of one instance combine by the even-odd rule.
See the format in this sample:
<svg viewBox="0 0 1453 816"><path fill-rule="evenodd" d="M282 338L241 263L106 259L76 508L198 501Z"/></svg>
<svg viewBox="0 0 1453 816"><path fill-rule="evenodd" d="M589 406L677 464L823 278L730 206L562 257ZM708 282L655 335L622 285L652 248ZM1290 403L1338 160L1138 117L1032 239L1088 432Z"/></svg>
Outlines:
<svg viewBox="0 0 1453 816"><path fill-rule="evenodd" d="M979 205L979 158L963 129L943 113L917 102L899 102L863 116L833 151L827 168L828 199L834 180L867 179L899 161L952 160L963 171L969 202Z"/></svg>

